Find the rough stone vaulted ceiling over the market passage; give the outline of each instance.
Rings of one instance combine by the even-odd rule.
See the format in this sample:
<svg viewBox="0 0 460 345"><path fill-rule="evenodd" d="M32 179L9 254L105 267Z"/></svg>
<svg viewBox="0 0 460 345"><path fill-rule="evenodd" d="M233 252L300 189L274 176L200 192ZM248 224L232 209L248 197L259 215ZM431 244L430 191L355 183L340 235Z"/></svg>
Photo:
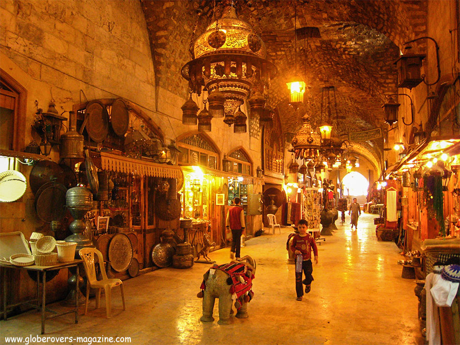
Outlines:
<svg viewBox="0 0 460 345"><path fill-rule="evenodd" d="M228 3L228 1L226 1ZM393 62L403 43L425 34L425 1L354 0L236 0L238 17L261 35L267 58L278 68L271 81L269 102L277 107L286 138L301 126L289 107L286 82L297 72L307 83L304 102L311 122L320 119L321 88L336 87L337 112L333 123L341 133L383 124L384 96L396 93ZM296 28L317 27L320 38L297 40L294 47L294 3ZM187 82L180 68L190 60L192 33L200 35L221 16L221 1L142 0L151 39L157 86L186 96ZM360 143L374 163L380 162L382 141Z"/></svg>

